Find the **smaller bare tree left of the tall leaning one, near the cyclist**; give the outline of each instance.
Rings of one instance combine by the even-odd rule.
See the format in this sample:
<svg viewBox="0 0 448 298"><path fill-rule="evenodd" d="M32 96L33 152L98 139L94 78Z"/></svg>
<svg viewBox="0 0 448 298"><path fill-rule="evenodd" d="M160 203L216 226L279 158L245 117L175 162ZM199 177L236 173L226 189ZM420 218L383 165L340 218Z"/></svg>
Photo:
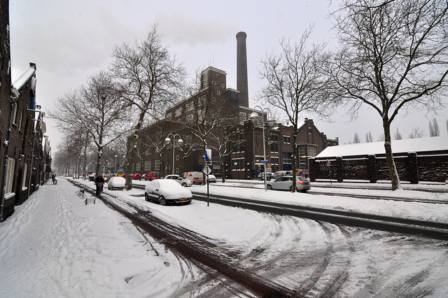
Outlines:
<svg viewBox="0 0 448 298"><path fill-rule="evenodd" d="M87 79L86 86L59 97L50 113L66 132L85 132L97 147L96 173L99 173L104 147L126 133L128 103L114 88L111 74L100 71ZM87 136L86 136L87 137Z"/></svg>

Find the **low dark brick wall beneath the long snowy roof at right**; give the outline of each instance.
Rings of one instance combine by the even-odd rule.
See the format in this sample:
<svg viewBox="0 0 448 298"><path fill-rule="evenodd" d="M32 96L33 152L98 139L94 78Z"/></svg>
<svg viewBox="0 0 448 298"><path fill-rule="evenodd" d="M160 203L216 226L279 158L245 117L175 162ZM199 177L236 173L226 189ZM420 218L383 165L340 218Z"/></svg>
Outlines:
<svg viewBox="0 0 448 298"><path fill-rule="evenodd" d="M402 181L418 184L419 181L446 183L448 172L448 152L407 152L393 157L398 176ZM309 159L309 178L318 179L391 180L384 155L353 157L329 157Z"/></svg>

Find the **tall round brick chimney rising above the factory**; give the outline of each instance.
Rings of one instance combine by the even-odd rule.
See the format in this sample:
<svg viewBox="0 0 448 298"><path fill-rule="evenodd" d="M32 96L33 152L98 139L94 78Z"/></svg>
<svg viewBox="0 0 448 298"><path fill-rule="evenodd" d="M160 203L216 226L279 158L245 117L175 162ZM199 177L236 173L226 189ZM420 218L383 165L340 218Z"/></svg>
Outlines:
<svg viewBox="0 0 448 298"><path fill-rule="evenodd" d="M246 37L243 31L237 34L237 90L239 90L239 105L248 107Z"/></svg>

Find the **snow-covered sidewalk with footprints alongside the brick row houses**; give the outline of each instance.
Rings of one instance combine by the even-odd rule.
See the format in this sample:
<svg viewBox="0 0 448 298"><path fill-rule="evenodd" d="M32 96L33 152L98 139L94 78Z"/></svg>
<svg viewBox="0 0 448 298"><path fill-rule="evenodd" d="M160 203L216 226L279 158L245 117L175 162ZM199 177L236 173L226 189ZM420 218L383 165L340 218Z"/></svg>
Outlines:
<svg viewBox="0 0 448 298"><path fill-rule="evenodd" d="M166 297L175 257L102 201L85 206L66 179L43 185L0 224L0 297ZM129 228L129 229L127 229ZM172 264L172 266L169 266ZM133 278L127 283L127 278Z"/></svg>

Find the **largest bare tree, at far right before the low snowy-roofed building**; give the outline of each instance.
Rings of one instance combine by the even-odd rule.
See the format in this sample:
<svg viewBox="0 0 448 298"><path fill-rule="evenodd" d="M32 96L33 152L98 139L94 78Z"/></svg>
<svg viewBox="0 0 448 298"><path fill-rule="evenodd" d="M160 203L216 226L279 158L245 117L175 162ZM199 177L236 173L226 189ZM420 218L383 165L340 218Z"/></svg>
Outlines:
<svg viewBox="0 0 448 298"><path fill-rule="evenodd" d="M447 9L446 0L343 0L335 13L338 95L353 114L366 104L380 115L392 190L401 184L391 123L399 111L437 109L447 91Z"/></svg>

